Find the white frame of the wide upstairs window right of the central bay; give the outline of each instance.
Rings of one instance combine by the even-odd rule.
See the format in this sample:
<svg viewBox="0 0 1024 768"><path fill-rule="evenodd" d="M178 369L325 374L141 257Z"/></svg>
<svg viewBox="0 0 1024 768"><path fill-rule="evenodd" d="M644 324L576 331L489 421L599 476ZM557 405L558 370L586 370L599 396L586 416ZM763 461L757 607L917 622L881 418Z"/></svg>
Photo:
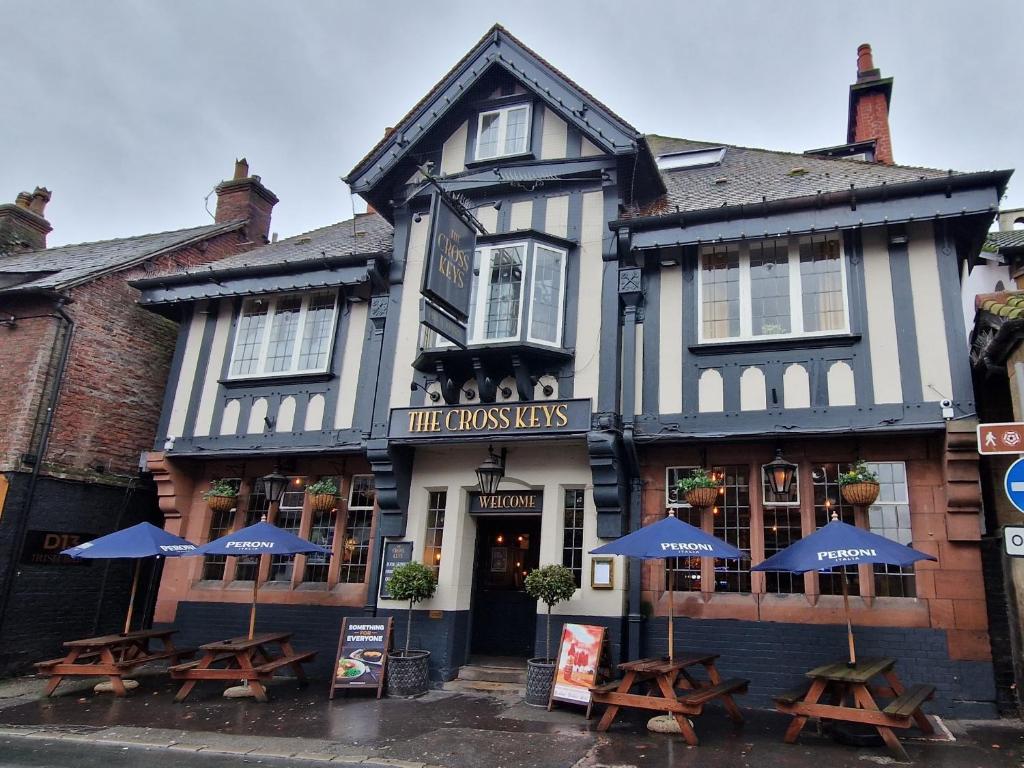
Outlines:
<svg viewBox="0 0 1024 768"><path fill-rule="evenodd" d="M835 331L804 331L804 304L800 275L800 246L817 236L791 238L765 238L764 242L782 240L786 243L790 268L790 328L787 334L754 334L754 318L751 306L751 244L746 241L736 244L739 249L739 335L706 338L703 335L703 248L697 250L697 343L723 344L733 341L764 341L773 339L818 338L820 336L843 336L850 333L850 295L846 270L846 252L843 239L825 234L839 244L840 280L843 292L843 327ZM758 241L762 242L762 241ZM728 244L726 244L728 245Z"/></svg>

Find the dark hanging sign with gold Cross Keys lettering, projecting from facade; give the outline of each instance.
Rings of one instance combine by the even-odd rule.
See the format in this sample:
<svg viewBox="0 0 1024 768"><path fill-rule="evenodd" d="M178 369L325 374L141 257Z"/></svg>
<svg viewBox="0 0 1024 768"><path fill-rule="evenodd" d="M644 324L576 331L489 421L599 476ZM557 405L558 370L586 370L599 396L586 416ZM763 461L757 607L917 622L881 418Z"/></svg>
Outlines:
<svg viewBox="0 0 1024 768"><path fill-rule="evenodd" d="M430 240L420 293L465 324L469 318L476 230L442 195L435 193L430 207Z"/></svg>

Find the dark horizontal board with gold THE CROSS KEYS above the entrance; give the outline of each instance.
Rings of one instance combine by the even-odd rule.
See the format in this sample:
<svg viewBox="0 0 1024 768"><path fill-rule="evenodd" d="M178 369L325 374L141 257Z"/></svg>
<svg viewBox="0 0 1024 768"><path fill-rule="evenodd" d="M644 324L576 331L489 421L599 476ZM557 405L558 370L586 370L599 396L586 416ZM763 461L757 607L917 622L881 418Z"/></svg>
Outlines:
<svg viewBox="0 0 1024 768"><path fill-rule="evenodd" d="M569 434L588 431L590 416L590 400L395 408L388 437Z"/></svg>

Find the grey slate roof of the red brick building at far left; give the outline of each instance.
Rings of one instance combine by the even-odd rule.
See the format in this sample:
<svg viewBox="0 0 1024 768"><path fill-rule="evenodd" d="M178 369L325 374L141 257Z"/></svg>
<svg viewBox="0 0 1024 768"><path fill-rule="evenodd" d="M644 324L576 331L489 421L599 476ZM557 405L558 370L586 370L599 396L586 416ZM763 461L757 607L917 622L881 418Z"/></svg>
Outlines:
<svg viewBox="0 0 1024 768"><path fill-rule="evenodd" d="M244 224L245 221L228 221L188 229L140 234L135 238L0 254L0 280L5 274L11 279L18 275L14 279L14 285L2 290L4 292L62 291L106 272L144 261L164 251L238 229Z"/></svg>

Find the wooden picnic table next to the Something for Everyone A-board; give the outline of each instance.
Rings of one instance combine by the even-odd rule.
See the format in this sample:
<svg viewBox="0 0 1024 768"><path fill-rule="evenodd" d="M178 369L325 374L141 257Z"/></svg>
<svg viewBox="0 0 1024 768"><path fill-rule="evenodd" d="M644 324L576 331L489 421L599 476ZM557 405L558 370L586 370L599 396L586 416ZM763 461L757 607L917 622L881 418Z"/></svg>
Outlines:
<svg viewBox="0 0 1024 768"><path fill-rule="evenodd" d="M285 667L291 667L300 685L305 685L306 673L302 664L311 660L316 651L297 653L291 640L292 633L280 632L201 645L203 655L199 660L171 668L172 678L185 681L174 700L183 701L201 680L233 680L249 685L257 701L266 701L263 684ZM274 645L279 646L280 653L269 649Z"/></svg>

